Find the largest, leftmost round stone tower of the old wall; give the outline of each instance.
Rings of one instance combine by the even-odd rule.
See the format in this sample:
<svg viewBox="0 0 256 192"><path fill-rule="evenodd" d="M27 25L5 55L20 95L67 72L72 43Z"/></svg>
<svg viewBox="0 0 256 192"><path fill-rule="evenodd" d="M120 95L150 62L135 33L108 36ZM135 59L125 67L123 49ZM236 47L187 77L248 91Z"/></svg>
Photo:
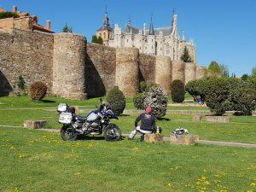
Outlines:
<svg viewBox="0 0 256 192"><path fill-rule="evenodd" d="M83 100L86 97L85 38L62 32L55 35L54 40L52 92L68 99Z"/></svg>

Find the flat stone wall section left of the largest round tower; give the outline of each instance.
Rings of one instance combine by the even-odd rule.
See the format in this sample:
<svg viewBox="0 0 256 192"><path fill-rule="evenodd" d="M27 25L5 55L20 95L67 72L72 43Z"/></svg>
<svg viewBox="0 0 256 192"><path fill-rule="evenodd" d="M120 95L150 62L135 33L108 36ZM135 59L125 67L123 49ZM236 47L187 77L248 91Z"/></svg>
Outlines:
<svg viewBox="0 0 256 192"><path fill-rule="evenodd" d="M54 37L43 32L0 32L0 92L8 94L20 75L29 86L43 81L52 87Z"/></svg>

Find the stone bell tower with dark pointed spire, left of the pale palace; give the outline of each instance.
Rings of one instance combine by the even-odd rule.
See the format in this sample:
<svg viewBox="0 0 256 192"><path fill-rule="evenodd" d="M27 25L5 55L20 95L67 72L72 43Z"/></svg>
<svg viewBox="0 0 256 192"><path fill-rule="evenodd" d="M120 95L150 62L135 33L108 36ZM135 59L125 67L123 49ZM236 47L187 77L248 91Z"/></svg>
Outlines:
<svg viewBox="0 0 256 192"><path fill-rule="evenodd" d="M108 11L106 9L105 16L103 19L103 26L96 31L96 37L103 39L103 44L108 46L108 41L112 38L113 30L109 24Z"/></svg>

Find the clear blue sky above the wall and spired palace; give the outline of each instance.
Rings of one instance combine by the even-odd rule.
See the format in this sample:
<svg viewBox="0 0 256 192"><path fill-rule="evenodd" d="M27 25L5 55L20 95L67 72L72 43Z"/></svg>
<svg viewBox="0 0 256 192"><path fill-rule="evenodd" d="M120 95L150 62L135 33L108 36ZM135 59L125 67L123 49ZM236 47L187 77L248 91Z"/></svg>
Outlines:
<svg viewBox="0 0 256 192"><path fill-rule="evenodd" d="M102 26L105 5L111 24L131 22L143 27L153 14L154 27L172 24L176 9L179 30L197 47L197 63L208 66L212 61L227 65L230 73L251 73L256 67L256 1L254 0L0 0L0 7L38 15L40 24L51 20L55 32L67 24L73 31L91 40ZM181 34L181 32L180 32Z"/></svg>

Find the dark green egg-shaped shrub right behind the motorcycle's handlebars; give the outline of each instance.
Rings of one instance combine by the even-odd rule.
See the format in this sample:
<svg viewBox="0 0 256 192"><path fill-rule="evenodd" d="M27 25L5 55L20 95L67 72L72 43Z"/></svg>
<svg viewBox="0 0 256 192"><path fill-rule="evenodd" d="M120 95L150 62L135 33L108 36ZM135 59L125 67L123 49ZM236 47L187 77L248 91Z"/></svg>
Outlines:
<svg viewBox="0 0 256 192"><path fill-rule="evenodd" d="M118 86L114 86L112 90L108 91L107 102L110 104L113 113L119 115L125 109L125 95Z"/></svg>

